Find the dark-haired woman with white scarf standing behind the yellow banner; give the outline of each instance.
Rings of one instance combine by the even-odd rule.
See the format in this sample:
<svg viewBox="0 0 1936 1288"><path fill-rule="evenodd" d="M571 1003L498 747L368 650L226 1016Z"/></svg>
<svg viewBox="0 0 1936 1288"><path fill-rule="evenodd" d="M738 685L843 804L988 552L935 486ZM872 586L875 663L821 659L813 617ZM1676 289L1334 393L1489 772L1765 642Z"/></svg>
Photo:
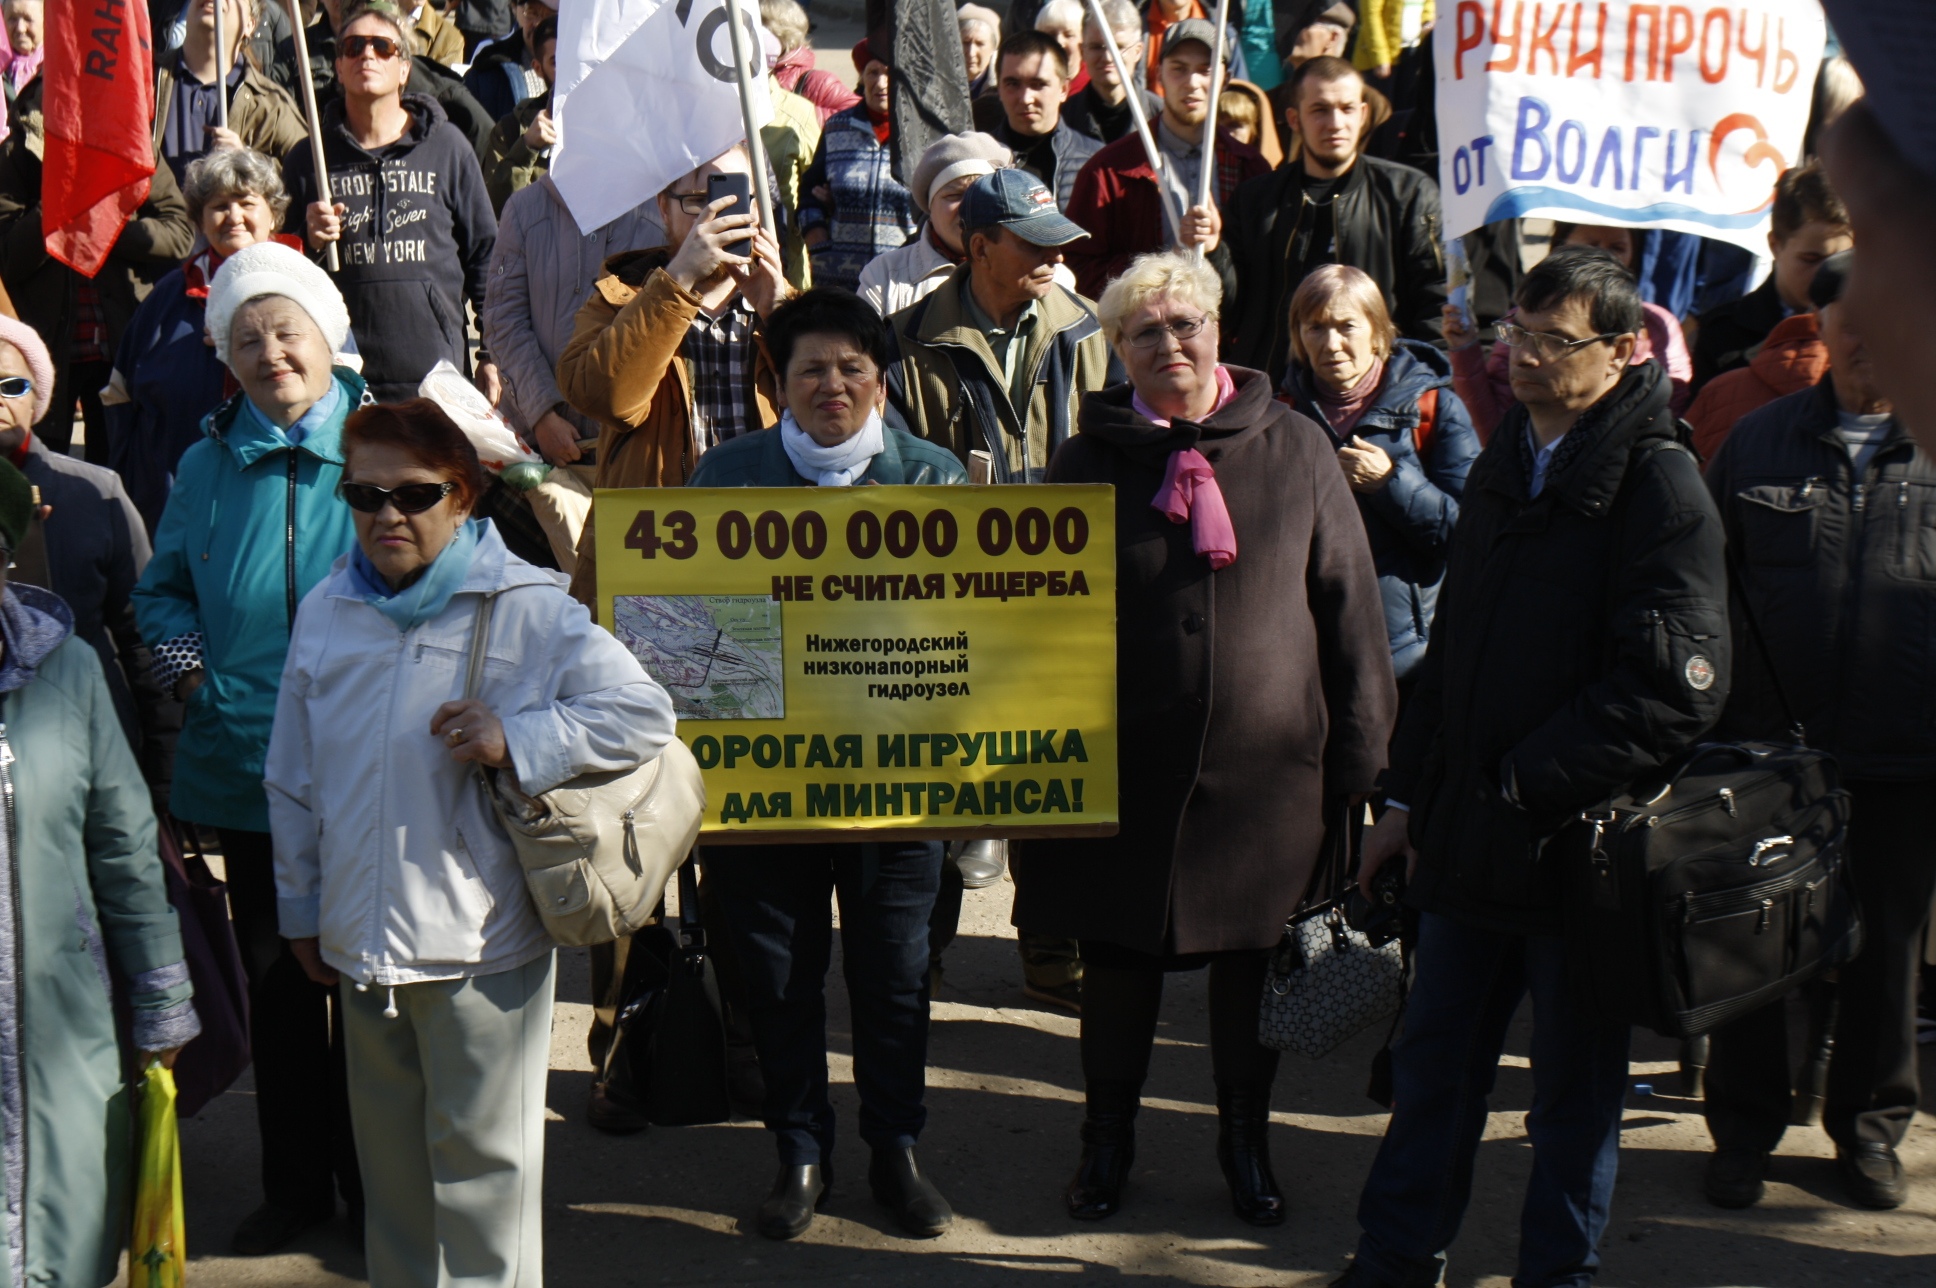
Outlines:
<svg viewBox="0 0 1936 1288"><path fill-rule="evenodd" d="M767 351L782 374L780 424L707 451L693 488L848 488L966 482L953 451L881 420L887 323L860 296L815 287L772 310ZM829 895L840 899L840 947L854 1007L860 1137L867 1183L918 1238L954 1222L914 1143L927 1121L927 918L941 889L941 843L734 844L705 850L747 982L753 1044L767 1079L765 1118L780 1172L759 1232L790 1240L813 1224L832 1180L834 1110L827 1098Z"/></svg>

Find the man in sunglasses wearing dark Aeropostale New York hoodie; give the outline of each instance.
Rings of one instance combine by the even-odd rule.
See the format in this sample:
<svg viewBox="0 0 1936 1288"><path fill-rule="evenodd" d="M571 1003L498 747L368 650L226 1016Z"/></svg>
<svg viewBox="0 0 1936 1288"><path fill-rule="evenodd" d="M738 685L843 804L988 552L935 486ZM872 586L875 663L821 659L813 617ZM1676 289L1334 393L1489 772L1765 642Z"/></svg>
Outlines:
<svg viewBox="0 0 1936 1288"><path fill-rule="evenodd" d="M350 10L337 39L341 101L323 108L331 201L316 192L308 139L283 161L288 232L310 252L337 248L335 285L350 308L364 380L379 403L416 397L447 360L470 372L465 304L482 314L498 219L476 149L426 95L405 93L410 43L387 0ZM480 353L476 383L498 399Z"/></svg>

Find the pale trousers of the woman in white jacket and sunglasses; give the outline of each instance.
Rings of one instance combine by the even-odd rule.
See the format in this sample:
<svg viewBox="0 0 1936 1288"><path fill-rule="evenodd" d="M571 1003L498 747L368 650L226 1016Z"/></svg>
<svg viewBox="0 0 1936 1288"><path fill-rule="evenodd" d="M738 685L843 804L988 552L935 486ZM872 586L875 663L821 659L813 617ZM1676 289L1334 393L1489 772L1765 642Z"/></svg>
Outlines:
<svg viewBox="0 0 1936 1288"><path fill-rule="evenodd" d="M556 953L368 992L343 980L370 1288L542 1288Z"/></svg>

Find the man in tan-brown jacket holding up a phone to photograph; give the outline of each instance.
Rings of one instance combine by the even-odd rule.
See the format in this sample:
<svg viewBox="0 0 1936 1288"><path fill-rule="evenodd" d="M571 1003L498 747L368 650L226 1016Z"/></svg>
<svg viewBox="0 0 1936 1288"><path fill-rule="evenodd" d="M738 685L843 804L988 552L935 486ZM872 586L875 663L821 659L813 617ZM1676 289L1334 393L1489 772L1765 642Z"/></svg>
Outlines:
<svg viewBox="0 0 1936 1288"><path fill-rule="evenodd" d="M751 174L734 145L658 194L666 244L606 260L558 358L565 401L604 428L598 488L678 488L707 447L780 418L778 380L759 341L786 294L780 252L759 215L707 203L711 174ZM753 234L751 256L732 250ZM579 538L571 595L598 614L596 523Z"/></svg>

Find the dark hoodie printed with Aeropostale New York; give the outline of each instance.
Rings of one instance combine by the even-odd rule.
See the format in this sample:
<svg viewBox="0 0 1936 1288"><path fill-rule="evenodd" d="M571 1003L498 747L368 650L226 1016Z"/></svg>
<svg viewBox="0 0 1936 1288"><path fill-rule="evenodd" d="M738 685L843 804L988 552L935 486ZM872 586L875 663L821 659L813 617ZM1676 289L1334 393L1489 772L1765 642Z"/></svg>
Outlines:
<svg viewBox="0 0 1936 1288"><path fill-rule="evenodd" d="M329 188L347 209L339 242L337 289L350 308L364 380L379 403L414 397L416 383L449 358L470 370L465 300L484 312L484 277L498 244L498 219L484 194L478 157L424 95L403 95L410 128L366 151L343 120L343 105L323 108ZM283 161L288 232L306 232L316 199L316 165L304 139Z"/></svg>

